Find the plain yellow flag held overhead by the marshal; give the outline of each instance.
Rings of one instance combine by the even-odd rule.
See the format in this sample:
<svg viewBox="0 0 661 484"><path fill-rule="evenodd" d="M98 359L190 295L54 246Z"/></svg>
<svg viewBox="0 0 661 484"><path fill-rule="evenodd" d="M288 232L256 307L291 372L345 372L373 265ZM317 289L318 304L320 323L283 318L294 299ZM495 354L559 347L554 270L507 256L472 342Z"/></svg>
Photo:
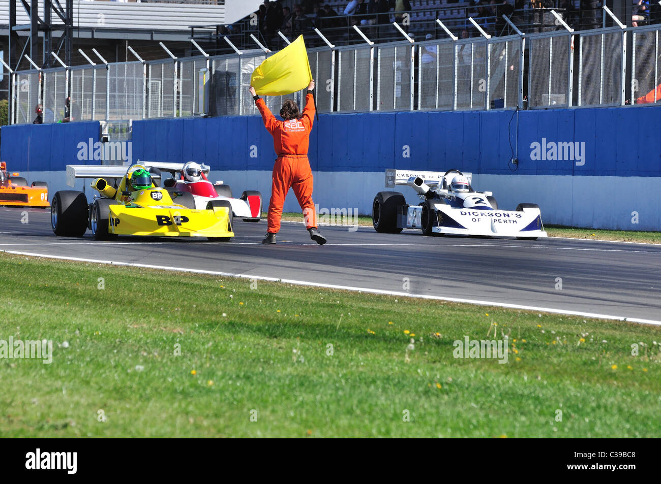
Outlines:
<svg viewBox="0 0 661 484"><path fill-rule="evenodd" d="M250 83L262 96L284 96L301 90L312 81L303 36L274 53L253 71Z"/></svg>

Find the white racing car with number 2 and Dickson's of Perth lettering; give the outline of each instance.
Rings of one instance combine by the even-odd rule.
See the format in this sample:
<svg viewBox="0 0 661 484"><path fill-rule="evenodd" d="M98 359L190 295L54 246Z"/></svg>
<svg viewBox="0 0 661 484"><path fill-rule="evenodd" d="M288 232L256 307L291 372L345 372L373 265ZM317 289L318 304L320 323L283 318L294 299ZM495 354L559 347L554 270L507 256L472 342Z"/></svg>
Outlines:
<svg viewBox="0 0 661 484"><path fill-rule="evenodd" d="M475 191L472 174L385 170L386 188L410 186L420 203L408 205L399 191L379 191L372 204L372 224L377 232L399 234L419 228L424 235L476 235L535 240L546 237L541 211L534 203L516 210L499 210L490 191Z"/></svg>

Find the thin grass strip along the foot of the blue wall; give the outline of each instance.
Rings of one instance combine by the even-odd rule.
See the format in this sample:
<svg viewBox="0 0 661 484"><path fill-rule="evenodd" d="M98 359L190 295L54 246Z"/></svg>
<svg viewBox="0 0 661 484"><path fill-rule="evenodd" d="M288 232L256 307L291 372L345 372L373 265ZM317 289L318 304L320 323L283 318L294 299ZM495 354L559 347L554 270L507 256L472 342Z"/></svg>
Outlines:
<svg viewBox="0 0 661 484"><path fill-rule="evenodd" d="M262 214L266 219L266 213ZM303 215L300 213L283 213L282 220L301 222ZM337 223L341 225L356 225L356 220L352 218L350 221L347 217L338 217ZM358 225L372 226L371 217L367 215L358 216ZM562 225L545 225L549 237L570 237L570 238L584 238L589 240L613 240L615 242L644 242L647 244L661 244L661 232L641 232L635 230L602 230L596 228L578 228L567 227Z"/></svg>

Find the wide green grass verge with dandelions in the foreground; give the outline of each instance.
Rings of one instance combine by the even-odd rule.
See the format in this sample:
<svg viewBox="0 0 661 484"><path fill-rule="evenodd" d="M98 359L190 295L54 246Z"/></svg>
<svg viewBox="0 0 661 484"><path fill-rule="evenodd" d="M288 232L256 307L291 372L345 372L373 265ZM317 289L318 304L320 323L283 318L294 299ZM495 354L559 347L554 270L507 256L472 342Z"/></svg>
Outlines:
<svg viewBox="0 0 661 484"><path fill-rule="evenodd" d="M661 435L654 326L8 254L0 270L0 340L54 342L51 364L0 359L3 436ZM507 363L455 359L494 331Z"/></svg>

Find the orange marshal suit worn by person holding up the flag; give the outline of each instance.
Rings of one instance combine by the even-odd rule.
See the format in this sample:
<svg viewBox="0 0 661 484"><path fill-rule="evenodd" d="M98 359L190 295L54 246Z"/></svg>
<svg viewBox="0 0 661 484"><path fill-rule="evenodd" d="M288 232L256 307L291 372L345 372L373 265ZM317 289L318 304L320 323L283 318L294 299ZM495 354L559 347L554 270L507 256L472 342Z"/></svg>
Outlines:
<svg viewBox="0 0 661 484"><path fill-rule="evenodd" d="M307 159L310 131L315 116L313 94L305 96L305 109L299 120L276 120L263 99L256 100L255 104L262 114L266 130L273 136L274 149L278 153L278 159L273 166L273 186L268 203L268 232L275 234L280 230L282 206L290 188L303 209L305 228L316 227L317 213L312 201L312 169Z"/></svg>

